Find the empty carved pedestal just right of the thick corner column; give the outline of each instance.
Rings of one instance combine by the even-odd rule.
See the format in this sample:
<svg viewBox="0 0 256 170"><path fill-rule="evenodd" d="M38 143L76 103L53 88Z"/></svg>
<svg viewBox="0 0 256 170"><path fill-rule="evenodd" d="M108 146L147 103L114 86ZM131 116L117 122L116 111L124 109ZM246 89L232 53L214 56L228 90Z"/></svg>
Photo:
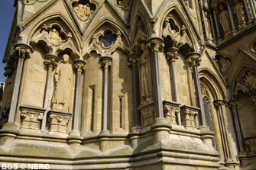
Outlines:
<svg viewBox="0 0 256 170"><path fill-rule="evenodd" d="M180 112L180 104L174 101L163 101L164 118L168 123L177 124L177 114Z"/></svg>

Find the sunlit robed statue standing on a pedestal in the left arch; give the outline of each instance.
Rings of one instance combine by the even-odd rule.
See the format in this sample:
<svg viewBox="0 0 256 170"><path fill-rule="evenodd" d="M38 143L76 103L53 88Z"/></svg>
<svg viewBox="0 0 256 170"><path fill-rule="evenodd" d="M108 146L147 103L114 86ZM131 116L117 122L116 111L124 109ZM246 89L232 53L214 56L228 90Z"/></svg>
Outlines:
<svg viewBox="0 0 256 170"><path fill-rule="evenodd" d="M63 55L63 61L57 66L55 78L55 90L53 93L53 109L59 111L70 111L70 88L72 84L73 70L69 63L70 56Z"/></svg>

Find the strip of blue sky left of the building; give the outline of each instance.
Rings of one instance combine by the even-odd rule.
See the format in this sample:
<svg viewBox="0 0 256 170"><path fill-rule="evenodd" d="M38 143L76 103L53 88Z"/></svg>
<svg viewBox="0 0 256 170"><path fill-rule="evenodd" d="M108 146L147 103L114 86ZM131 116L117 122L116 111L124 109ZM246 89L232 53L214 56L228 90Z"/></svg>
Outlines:
<svg viewBox="0 0 256 170"><path fill-rule="evenodd" d="M2 59L5 55L5 47L8 41L8 36L11 30L11 23L15 14L15 7L13 6L15 0L1 0L0 6L0 82L5 82L5 64Z"/></svg>

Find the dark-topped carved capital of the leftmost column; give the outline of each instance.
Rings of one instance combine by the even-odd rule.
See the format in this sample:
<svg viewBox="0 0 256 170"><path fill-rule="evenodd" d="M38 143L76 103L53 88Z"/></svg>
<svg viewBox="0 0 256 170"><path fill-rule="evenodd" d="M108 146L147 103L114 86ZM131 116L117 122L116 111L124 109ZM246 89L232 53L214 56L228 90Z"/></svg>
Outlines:
<svg viewBox="0 0 256 170"><path fill-rule="evenodd" d="M15 50L12 52L12 56L22 57L22 58L30 58L31 53L33 53L33 49L30 45L26 43L16 43Z"/></svg>

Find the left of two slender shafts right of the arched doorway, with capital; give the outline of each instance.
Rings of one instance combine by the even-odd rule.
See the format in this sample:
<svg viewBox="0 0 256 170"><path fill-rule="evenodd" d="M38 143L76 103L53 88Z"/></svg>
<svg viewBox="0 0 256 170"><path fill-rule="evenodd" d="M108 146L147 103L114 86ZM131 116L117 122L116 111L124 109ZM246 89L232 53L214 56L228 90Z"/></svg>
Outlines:
<svg viewBox="0 0 256 170"><path fill-rule="evenodd" d="M232 161L232 159L230 159L230 156L229 156L228 141L227 141L227 137L226 137L226 133L225 133L225 126L224 126L224 122L223 122L223 118L222 118L222 108L221 108L222 104L224 104L224 102L220 99L217 99L217 100L213 101L213 104L219 111L219 119L220 119L220 123L222 126L223 140L224 140L224 144L225 144L225 153L226 153L225 162L230 162L230 161Z"/></svg>

